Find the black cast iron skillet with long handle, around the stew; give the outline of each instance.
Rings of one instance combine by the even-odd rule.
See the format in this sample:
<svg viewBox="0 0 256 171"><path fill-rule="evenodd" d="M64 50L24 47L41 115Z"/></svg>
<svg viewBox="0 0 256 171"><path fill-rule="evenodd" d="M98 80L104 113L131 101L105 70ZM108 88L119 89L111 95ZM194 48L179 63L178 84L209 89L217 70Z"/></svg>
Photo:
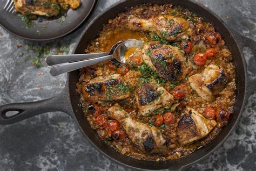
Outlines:
<svg viewBox="0 0 256 171"><path fill-rule="evenodd" d="M14 103L6 104L0 106L0 124L11 124L19 122L20 120L39 115L40 113L50 112L50 111L62 111L68 113L73 120L79 125L79 129L82 131L84 136L90 140L90 142L106 156L108 156L113 161L122 163L126 166L140 169L181 169L191 163L194 163L212 152L215 148L220 146L233 127L237 123L240 117L245 103L245 92L246 84L248 86L255 85L255 80L247 81L246 79L246 65L244 57L241 54L241 48L243 46L249 46L253 49L254 54L256 53L255 42L244 38L238 34L231 34L227 30L223 21L217 17L212 11L206 9L204 6L193 3L191 1L174 1L174 0L137 0L137 1L124 1L117 3L111 8L107 9L102 15L92 20L92 22L87 26L82 34L82 37L78 41L74 53L83 53L84 48L90 44L98 35L97 33L102 29L103 25L107 23L110 18L114 18L118 13L124 12L127 8L131 6L136 6L143 3L172 3L184 6L185 8L197 12L200 16L203 16L205 20L212 23L214 28L221 33L226 45L231 50L234 58L234 65L236 67L236 83L237 92L234 104L234 113L232 114L228 124L223 127L218 136L212 140L211 143L207 144L203 148L198 149L190 155L187 155L178 160L169 161L140 161L137 159L130 158L129 156L122 155L118 152L112 150L109 145L106 145L98 136L95 130L91 129L90 124L83 116L82 108L78 105L79 99L76 92L76 83L78 82L78 70L68 74L68 80L66 81L66 86L64 90L56 97L46 99L39 102L30 103ZM235 37L235 39L234 39ZM14 116L6 116L8 111L18 111Z"/></svg>

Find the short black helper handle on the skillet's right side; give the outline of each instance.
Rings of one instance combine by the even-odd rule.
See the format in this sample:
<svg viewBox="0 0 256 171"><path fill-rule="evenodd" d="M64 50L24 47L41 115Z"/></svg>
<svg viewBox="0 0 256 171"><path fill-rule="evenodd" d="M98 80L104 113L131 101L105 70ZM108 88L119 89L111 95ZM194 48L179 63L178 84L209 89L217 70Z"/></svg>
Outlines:
<svg viewBox="0 0 256 171"><path fill-rule="evenodd" d="M256 41L244 37L243 35L237 33L236 31L230 29L234 39L237 41L240 51L242 53L247 53L244 55L246 61L246 68L248 74L248 81L246 84L246 96L247 98L254 94L255 87L256 87ZM248 47L248 48L245 48ZM251 51L251 52L250 52Z"/></svg>

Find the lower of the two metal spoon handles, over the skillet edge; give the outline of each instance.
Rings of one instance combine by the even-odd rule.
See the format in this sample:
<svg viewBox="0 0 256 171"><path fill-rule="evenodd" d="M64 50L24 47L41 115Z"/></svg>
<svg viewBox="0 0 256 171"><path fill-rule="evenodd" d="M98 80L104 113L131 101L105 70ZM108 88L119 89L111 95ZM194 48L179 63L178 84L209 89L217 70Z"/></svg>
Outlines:
<svg viewBox="0 0 256 171"><path fill-rule="evenodd" d="M80 69L80 68L83 68L86 66L90 66L90 65L93 65L95 63L99 63L99 62L102 62L105 60L110 60L110 59L112 59L112 55L102 56L99 58L87 59L87 60L78 61L78 62L64 63L62 65L57 65L57 66L51 67L50 74L52 76L56 76L59 74L68 73L73 70L77 70L77 69Z"/></svg>

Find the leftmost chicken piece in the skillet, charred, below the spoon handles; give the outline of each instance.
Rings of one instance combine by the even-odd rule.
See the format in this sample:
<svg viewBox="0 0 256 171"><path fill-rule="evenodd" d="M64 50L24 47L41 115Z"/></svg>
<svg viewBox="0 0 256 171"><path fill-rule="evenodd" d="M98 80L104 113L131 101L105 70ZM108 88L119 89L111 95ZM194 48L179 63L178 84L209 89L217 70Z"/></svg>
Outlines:
<svg viewBox="0 0 256 171"><path fill-rule="evenodd" d="M130 96L128 88L124 91L121 88L127 88L127 84L121 80L119 74L110 76L98 76L89 83L82 85L82 92L85 99L92 102L111 101L124 99Z"/></svg>

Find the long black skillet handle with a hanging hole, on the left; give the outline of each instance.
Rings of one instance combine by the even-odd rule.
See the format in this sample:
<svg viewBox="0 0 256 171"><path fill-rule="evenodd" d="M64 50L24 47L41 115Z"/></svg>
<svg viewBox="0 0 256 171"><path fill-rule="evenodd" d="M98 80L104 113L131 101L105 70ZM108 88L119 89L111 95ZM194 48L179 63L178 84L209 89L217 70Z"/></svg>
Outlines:
<svg viewBox="0 0 256 171"><path fill-rule="evenodd" d="M64 93L63 93L64 92ZM12 124L41 113L62 111L71 113L71 103L65 91L56 97L37 102L11 103L0 106L0 124ZM9 112L13 115L10 116Z"/></svg>

